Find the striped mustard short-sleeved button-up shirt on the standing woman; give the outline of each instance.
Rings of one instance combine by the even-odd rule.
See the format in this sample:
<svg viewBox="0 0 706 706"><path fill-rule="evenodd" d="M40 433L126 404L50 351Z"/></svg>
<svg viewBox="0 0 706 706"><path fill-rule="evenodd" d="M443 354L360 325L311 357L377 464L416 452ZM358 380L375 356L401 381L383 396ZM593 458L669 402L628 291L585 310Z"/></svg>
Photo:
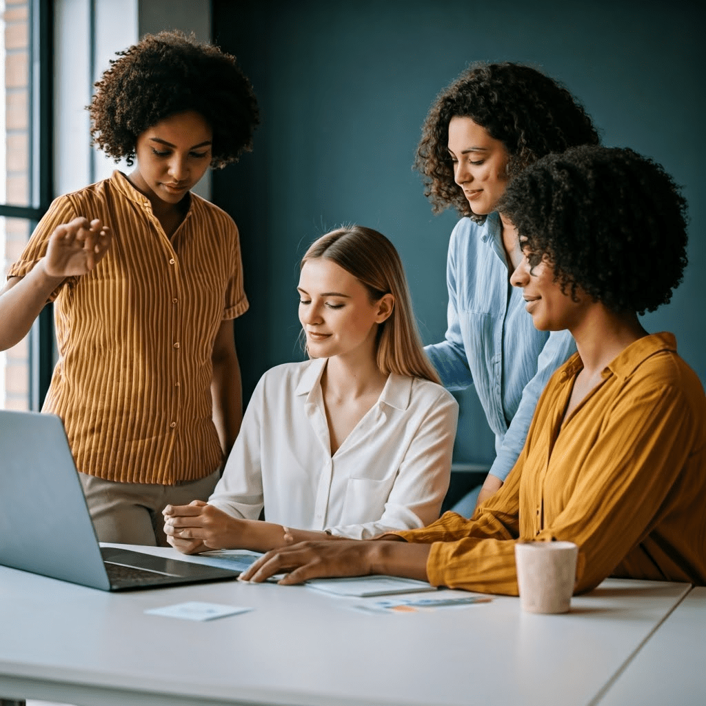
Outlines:
<svg viewBox="0 0 706 706"><path fill-rule="evenodd" d="M59 361L44 412L64 420L80 472L112 481L200 479L222 462L212 419L213 342L248 308L238 229L191 194L171 240L120 172L56 198L8 277L44 256L54 228L100 218L113 241L55 299Z"/></svg>

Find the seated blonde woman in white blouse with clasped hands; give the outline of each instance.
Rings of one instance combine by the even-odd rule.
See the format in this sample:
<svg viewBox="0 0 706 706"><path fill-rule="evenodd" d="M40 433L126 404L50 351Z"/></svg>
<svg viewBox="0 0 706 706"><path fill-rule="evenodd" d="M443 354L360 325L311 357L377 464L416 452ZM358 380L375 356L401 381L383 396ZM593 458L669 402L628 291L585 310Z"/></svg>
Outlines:
<svg viewBox="0 0 706 706"><path fill-rule="evenodd" d="M310 360L263 375L208 503L164 508L179 551L367 539L438 517L457 404L424 356L395 247L337 229L306 252L297 289Z"/></svg>

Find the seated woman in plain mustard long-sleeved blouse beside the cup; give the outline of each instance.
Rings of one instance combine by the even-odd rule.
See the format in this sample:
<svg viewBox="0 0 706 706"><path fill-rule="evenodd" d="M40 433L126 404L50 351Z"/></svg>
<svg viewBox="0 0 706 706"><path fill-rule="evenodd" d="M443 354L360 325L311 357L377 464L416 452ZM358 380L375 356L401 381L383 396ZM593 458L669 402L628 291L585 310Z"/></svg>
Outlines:
<svg viewBox="0 0 706 706"><path fill-rule="evenodd" d="M706 584L706 397L674 336L638 319L681 282L686 201L632 150L581 147L515 177L502 212L534 325L570 330L578 349L546 386L503 488L470 520L293 544L244 580L384 573L516 595L515 542L536 539L578 544L577 592L609 575Z"/></svg>

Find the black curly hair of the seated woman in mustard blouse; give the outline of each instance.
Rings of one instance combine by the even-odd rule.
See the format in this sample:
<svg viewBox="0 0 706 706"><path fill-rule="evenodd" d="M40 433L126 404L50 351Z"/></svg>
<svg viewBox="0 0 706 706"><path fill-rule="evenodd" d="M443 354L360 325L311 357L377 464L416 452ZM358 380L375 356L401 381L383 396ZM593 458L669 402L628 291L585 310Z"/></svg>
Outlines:
<svg viewBox="0 0 706 706"><path fill-rule="evenodd" d="M660 164L633 150L542 157L510 181L498 208L530 265L546 256L574 300L580 287L612 311L642 314L668 304L682 280L686 200Z"/></svg>

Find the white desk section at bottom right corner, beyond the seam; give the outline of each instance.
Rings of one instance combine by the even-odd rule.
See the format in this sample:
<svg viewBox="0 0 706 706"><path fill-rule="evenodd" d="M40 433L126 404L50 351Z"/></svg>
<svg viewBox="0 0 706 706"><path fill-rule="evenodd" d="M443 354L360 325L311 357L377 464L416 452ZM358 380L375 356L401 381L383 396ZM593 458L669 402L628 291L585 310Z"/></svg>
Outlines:
<svg viewBox="0 0 706 706"><path fill-rule="evenodd" d="M706 704L706 588L688 593L598 703Z"/></svg>

